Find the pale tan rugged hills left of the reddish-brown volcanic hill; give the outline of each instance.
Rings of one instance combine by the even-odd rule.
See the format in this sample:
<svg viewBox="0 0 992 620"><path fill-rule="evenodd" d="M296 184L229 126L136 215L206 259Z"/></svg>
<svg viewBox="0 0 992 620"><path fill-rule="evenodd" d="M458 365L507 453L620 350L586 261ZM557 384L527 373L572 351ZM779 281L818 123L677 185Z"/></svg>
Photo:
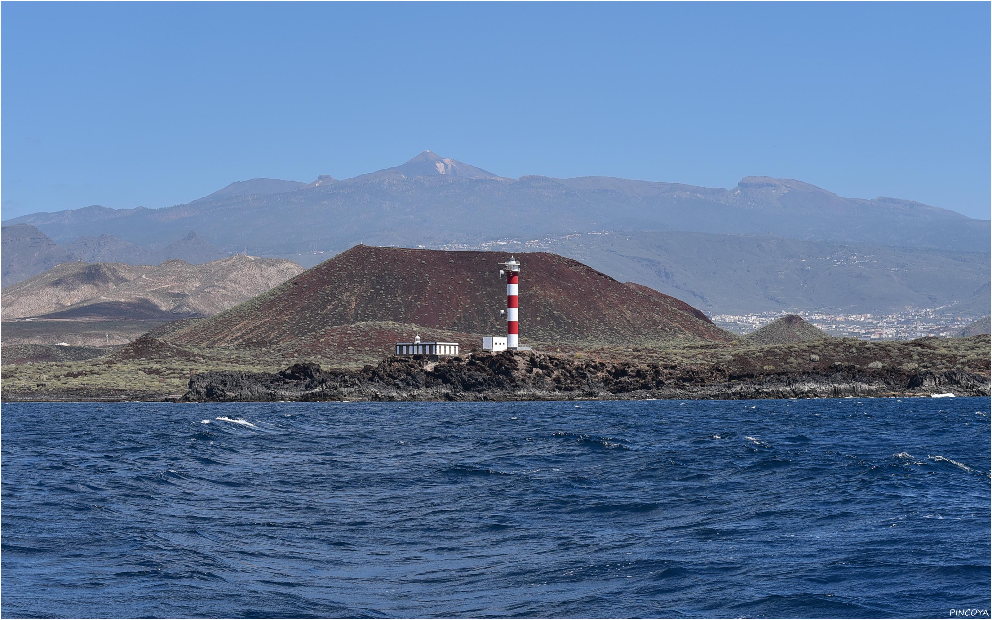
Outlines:
<svg viewBox="0 0 992 620"><path fill-rule="evenodd" d="M210 315L300 274L284 259L230 256L190 265L169 260L157 267L70 263L3 291L3 317L169 318Z"/></svg>

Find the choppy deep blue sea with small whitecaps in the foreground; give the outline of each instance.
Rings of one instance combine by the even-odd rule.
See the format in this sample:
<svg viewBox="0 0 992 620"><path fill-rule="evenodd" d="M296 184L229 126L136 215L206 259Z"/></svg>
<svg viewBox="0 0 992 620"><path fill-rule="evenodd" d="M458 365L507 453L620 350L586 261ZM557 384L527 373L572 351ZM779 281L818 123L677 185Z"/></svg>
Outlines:
<svg viewBox="0 0 992 620"><path fill-rule="evenodd" d="M6 617L947 617L988 399L3 407Z"/></svg>

